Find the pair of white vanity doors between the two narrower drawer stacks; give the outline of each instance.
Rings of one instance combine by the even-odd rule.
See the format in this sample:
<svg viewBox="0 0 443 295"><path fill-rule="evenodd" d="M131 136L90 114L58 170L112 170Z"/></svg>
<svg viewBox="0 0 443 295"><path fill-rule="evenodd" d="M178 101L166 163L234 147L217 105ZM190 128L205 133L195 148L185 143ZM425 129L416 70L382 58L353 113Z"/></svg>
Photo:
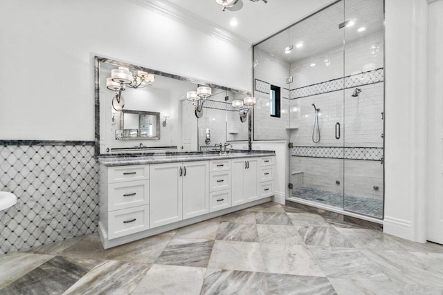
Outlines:
<svg viewBox="0 0 443 295"><path fill-rule="evenodd" d="M232 160L232 205L237 206L259 198L257 169L259 158Z"/></svg>

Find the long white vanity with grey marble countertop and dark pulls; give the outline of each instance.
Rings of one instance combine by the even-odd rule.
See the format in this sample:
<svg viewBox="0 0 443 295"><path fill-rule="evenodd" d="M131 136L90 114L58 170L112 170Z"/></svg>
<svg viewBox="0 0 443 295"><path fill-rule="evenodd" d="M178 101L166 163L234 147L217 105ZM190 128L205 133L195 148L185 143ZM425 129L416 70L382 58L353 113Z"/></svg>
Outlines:
<svg viewBox="0 0 443 295"><path fill-rule="evenodd" d="M99 233L105 249L268 202L275 153L101 156Z"/></svg>

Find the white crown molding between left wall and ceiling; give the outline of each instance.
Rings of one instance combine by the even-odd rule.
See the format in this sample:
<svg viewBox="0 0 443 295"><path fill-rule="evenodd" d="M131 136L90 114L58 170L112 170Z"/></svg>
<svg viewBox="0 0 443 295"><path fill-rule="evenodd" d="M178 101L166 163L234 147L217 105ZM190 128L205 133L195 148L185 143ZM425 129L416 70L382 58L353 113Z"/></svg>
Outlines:
<svg viewBox="0 0 443 295"><path fill-rule="evenodd" d="M204 32L207 35L212 37L216 37L223 41L226 41L235 46L239 46L241 48L251 48L252 41L231 32L230 30L226 30L226 28L217 25L217 23L213 23L212 21L208 21L199 15L196 15L188 10L185 10L173 3L169 3L168 1L160 1L160 0L127 0L132 2L138 6L143 8L147 8L153 12L158 13L159 15L163 15L164 17L168 17L173 19L174 21L178 21L179 23L183 23L186 26L190 26L196 30Z"/></svg>

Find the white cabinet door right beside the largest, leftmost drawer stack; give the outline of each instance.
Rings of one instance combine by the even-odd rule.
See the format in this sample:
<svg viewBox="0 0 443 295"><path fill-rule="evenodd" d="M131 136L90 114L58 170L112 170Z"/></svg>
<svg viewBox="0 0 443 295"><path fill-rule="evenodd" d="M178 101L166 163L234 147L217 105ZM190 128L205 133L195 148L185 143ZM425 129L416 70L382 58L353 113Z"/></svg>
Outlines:
<svg viewBox="0 0 443 295"><path fill-rule="evenodd" d="M181 169L181 163L151 165L151 228L182 220Z"/></svg>

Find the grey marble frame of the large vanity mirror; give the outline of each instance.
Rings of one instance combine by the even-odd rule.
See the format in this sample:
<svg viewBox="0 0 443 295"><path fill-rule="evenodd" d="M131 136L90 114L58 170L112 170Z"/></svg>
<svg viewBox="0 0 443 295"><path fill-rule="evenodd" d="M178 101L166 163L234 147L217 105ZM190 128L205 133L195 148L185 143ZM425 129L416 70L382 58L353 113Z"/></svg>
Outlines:
<svg viewBox="0 0 443 295"><path fill-rule="evenodd" d="M148 73L152 73L154 75L160 75L163 77L168 77L168 78L172 78L172 79L178 79L181 81L185 81L185 82L190 82L192 84L196 84L200 85L200 86L208 86L211 88L219 88L221 90L224 91L231 91L234 93L240 93L242 95L246 95L246 96L251 96L252 93L248 92L248 91L242 91L239 89L235 89L235 88L230 88L230 87L226 87L226 86L221 86L218 84L214 84L214 83L210 83L210 82L206 82L203 80L198 80L198 79L193 79L190 77L183 77L180 75L174 75L174 74L170 74L170 73L165 73L162 72L160 70L154 70L152 68L145 68L143 66L137 66L135 64L129 64L128 62L124 62L124 61L118 61L115 59L109 59L106 57L99 57L99 56L95 56L94 57L94 99L95 99L95 103L94 103L94 113L95 113L95 122L96 122L96 128L95 128L95 155L96 157L98 156L118 156L119 154L113 153L113 154L109 154L109 153L100 153L100 64L101 63L106 63L106 64L112 64L114 66L125 66L127 68L131 68L134 70L143 70L145 72ZM106 87L105 87L106 88ZM251 150L252 148L252 117L251 117L251 113L249 112L248 115L248 148L249 150ZM143 139L146 139L144 137L142 137ZM121 155L121 154L120 154Z"/></svg>

